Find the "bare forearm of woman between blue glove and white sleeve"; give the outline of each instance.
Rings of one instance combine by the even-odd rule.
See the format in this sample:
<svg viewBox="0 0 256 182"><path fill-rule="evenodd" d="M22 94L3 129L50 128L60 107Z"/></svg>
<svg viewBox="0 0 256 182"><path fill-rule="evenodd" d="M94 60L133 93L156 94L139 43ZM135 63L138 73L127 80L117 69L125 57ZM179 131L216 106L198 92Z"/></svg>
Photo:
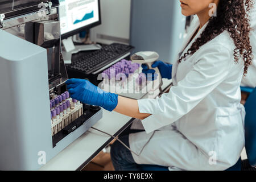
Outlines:
<svg viewBox="0 0 256 182"><path fill-rule="evenodd" d="M145 119L151 114L139 113L138 101L126 97L118 96L118 104L114 111L120 114L137 119Z"/></svg>

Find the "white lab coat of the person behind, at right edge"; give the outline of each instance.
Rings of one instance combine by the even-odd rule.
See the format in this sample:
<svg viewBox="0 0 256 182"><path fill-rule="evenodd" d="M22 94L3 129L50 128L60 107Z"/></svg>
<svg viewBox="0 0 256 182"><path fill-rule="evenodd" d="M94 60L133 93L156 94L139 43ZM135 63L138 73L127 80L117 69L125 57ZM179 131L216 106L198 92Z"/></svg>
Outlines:
<svg viewBox="0 0 256 182"><path fill-rule="evenodd" d="M255 5L254 5L255 6ZM256 87L256 8L250 10L250 24L253 30L250 34L251 47L253 49L254 60L248 69L246 77L242 78L241 86Z"/></svg>

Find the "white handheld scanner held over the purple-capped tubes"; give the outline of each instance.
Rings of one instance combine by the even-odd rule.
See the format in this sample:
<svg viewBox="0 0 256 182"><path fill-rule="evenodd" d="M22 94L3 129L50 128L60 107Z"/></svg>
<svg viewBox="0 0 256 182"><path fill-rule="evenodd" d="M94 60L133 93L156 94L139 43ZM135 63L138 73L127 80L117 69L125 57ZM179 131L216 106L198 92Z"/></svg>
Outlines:
<svg viewBox="0 0 256 182"><path fill-rule="evenodd" d="M158 67L152 68L152 64L158 59L159 59L159 54L157 52L152 52L152 51L137 52L131 56L131 61L133 61L133 63L146 64L148 69L155 70L155 73L158 74L158 77L160 80L159 87L161 87L163 85L163 81L162 81L160 71Z"/></svg>

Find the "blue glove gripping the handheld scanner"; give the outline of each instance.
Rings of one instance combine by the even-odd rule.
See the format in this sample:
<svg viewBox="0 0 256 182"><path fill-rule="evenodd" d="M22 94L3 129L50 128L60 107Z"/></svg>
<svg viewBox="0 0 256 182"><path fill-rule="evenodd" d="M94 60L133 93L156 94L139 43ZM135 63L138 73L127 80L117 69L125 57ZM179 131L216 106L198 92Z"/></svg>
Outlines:
<svg viewBox="0 0 256 182"><path fill-rule="evenodd" d="M163 61L155 61L155 63L152 64L152 68L158 67L159 72L162 76L162 78L171 79L172 78L172 64L164 63ZM155 80L155 70L154 69L148 69L146 64L142 64L142 72L146 74L152 74L152 80Z"/></svg>

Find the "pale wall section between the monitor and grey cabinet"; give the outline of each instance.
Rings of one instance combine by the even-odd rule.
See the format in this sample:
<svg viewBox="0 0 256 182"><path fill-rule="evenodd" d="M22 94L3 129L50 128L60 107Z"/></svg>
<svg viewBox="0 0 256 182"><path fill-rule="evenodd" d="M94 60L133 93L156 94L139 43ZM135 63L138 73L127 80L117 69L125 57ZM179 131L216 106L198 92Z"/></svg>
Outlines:
<svg viewBox="0 0 256 182"><path fill-rule="evenodd" d="M131 0L101 0L100 26L90 30L94 42L129 44Z"/></svg>

